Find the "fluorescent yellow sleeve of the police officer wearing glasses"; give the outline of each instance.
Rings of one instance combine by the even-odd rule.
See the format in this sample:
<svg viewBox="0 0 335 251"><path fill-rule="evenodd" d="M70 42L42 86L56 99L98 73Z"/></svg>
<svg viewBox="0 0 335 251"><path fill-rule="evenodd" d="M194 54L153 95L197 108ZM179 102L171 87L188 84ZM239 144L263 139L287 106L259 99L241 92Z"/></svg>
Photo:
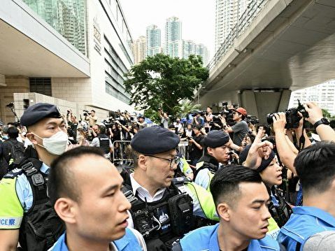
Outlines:
<svg viewBox="0 0 335 251"><path fill-rule="evenodd" d="M219 217L216 214L216 208L212 194L204 189L204 187L201 187L194 182L187 182L185 185L193 194L195 194L195 196L197 196L200 207L202 208L206 218L210 220L219 220Z"/></svg>

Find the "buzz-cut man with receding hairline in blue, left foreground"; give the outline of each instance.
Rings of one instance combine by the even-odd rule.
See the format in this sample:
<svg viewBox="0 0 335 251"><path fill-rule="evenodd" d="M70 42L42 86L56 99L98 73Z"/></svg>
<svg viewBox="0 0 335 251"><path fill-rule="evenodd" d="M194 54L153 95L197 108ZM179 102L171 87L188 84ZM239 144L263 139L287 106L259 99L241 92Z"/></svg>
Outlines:
<svg viewBox="0 0 335 251"><path fill-rule="evenodd" d="M122 182L97 148L74 148L52 162L48 191L66 234L51 250L146 250L141 234L127 228Z"/></svg>

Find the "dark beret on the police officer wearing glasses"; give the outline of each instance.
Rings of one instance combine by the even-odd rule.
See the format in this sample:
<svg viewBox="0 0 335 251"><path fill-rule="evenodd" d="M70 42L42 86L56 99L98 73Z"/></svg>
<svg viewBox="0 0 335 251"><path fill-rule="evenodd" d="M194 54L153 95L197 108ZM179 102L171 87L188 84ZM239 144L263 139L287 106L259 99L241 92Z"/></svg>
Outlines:
<svg viewBox="0 0 335 251"><path fill-rule="evenodd" d="M131 139L131 148L145 155L167 152L177 147L177 134L162 127L145 127Z"/></svg>

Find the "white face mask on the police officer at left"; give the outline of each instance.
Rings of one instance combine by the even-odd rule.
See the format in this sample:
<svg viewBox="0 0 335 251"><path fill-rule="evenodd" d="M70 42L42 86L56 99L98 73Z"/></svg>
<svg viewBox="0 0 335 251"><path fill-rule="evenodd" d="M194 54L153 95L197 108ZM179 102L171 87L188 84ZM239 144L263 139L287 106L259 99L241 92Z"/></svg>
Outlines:
<svg viewBox="0 0 335 251"><path fill-rule="evenodd" d="M40 136L37 137L41 138ZM50 152L52 155L62 155L62 153L66 150L68 136L64 133L64 131L58 131L50 138L41 138L41 140L43 141L43 145L38 144L39 146L45 148L45 150Z"/></svg>

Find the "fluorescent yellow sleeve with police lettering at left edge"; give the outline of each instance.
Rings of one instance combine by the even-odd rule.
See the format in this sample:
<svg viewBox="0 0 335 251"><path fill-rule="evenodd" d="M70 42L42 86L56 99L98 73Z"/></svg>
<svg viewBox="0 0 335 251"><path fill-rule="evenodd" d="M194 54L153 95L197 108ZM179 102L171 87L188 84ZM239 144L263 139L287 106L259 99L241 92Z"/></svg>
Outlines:
<svg viewBox="0 0 335 251"><path fill-rule="evenodd" d="M0 181L0 229L20 227L23 208L16 194L16 177Z"/></svg>

